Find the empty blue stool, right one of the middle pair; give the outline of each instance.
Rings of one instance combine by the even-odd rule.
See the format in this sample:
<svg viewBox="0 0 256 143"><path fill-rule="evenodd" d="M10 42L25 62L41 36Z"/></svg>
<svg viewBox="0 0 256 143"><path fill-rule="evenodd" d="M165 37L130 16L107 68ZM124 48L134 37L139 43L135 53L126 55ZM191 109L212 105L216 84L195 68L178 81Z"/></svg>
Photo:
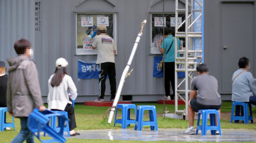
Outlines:
<svg viewBox="0 0 256 143"><path fill-rule="evenodd" d="M149 110L149 121L143 121L144 111ZM141 131L143 126L150 126L151 130L157 131L157 114L155 111L155 106L141 105L137 106L137 114L136 114L136 124L134 130Z"/></svg>

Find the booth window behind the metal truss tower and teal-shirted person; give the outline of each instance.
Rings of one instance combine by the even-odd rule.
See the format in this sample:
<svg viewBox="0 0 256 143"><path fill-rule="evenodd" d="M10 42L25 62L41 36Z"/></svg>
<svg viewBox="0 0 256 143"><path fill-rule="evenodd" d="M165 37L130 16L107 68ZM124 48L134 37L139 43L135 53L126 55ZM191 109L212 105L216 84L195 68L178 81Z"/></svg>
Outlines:
<svg viewBox="0 0 256 143"><path fill-rule="evenodd" d="M185 19L185 14L179 14L178 24L181 24ZM157 41L164 38L163 23L165 29L172 30L172 35L175 36L175 14L152 13L151 14L151 33L150 33L150 54L161 54L159 51L159 44ZM179 31L185 31L185 25L180 27ZM185 39L180 38L180 42L184 46Z"/></svg>

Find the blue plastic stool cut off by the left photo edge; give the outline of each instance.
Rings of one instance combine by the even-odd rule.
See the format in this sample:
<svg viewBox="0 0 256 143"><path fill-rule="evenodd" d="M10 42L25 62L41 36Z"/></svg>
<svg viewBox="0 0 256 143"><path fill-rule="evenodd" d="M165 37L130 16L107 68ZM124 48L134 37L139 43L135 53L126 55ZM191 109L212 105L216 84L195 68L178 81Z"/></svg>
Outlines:
<svg viewBox="0 0 256 143"><path fill-rule="evenodd" d="M15 131L15 124L14 124L14 118L12 116L12 122L6 122L6 113L7 113L7 108L0 108L0 114L1 114L1 118L0 118L0 128L1 131L4 131L6 129L6 127L13 127L14 131Z"/></svg>

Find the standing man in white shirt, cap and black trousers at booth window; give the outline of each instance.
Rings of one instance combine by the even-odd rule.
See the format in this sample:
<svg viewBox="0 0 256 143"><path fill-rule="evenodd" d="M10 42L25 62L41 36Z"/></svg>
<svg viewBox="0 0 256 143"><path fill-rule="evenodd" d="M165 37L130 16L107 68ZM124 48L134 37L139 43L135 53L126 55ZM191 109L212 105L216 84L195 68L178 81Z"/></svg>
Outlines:
<svg viewBox="0 0 256 143"><path fill-rule="evenodd" d="M94 37L92 48L97 48L96 63L99 64L99 98L94 101L104 101L107 75L109 75L111 85L111 101L114 101L116 96L116 44L114 40L107 35L107 27L105 25L99 25L97 31L99 35Z"/></svg>

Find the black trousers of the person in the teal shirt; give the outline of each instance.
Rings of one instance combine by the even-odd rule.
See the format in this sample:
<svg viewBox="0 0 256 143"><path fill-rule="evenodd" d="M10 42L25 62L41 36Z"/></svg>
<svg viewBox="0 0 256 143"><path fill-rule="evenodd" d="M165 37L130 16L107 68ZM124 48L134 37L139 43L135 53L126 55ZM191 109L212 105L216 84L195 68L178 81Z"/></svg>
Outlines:
<svg viewBox="0 0 256 143"><path fill-rule="evenodd" d="M164 88L165 96L170 96L174 98L174 84L175 84L175 63L174 62L164 62ZM172 83L172 95L170 95L170 83Z"/></svg>

